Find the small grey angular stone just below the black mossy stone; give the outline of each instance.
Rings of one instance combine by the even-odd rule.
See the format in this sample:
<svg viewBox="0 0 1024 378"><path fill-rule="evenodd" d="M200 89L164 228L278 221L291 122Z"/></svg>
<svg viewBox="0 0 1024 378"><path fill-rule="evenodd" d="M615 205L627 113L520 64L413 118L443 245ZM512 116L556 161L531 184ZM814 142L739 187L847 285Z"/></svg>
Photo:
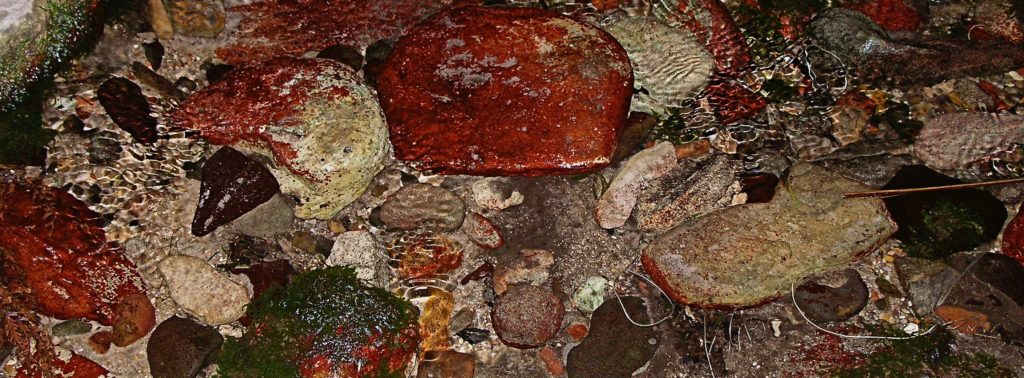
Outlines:
<svg viewBox="0 0 1024 378"><path fill-rule="evenodd" d="M895 264L896 276L919 317L932 313L959 277L948 265L925 258L901 256Z"/></svg>

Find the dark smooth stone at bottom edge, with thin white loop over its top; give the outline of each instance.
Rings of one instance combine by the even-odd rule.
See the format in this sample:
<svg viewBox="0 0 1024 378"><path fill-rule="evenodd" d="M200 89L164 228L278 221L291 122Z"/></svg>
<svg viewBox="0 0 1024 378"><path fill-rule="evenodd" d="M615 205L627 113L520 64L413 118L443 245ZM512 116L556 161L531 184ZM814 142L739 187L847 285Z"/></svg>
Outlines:
<svg viewBox="0 0 1024 378"><path fill-rule="evenodd" d="M647 323L643 299L622 300L634 321ZM623 313L618 301L609 300L594 311L587 337L569 350L566 371L570 377L630 377L647 364L658 341L657 332L634 326Z"/></svg>

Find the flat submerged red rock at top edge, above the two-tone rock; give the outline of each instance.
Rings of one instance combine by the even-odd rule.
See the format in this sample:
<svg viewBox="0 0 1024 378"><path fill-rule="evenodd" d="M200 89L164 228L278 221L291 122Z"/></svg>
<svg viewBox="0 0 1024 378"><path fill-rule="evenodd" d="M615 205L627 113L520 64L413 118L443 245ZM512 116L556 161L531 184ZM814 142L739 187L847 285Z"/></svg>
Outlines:
<svg viewBox="0 0 1024 378"><path fill-rule="evenodd" d="M242 22L236 43L217 49L231 65L302 55L334 45L358 50L400 36L447 6L443 0L267 0L230 9Z"/></svg>

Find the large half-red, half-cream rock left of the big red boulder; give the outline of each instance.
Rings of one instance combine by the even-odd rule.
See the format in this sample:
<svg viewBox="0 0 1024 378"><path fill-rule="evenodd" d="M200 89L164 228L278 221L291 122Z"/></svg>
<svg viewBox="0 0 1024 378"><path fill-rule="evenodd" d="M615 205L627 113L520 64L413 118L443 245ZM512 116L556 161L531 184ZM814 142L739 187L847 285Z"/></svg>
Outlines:
<svg viewBox="0 0 1024 378"><path fill-rule="evenodd" d="M173 124L215 144L272 158L295 215L327 219L358 198L387 158L373 91L330 59L278 57L236 69L193 94Z"/></svg>

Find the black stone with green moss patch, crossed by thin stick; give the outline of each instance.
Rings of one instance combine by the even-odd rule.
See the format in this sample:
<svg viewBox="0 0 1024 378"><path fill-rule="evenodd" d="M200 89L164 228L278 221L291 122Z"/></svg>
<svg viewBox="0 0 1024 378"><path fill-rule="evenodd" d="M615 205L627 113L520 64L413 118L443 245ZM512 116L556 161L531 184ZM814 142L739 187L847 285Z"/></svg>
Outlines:
<svg viewBox="0 0 1024 378"><path fill-rule="evenodd" d="M925 166L903 167L883 188L924 187L962 183ZM896 239L911 257L937 259L973 250L995 240L1007 209L985 191L915 193L884 200L899 224Z"/></svg>

